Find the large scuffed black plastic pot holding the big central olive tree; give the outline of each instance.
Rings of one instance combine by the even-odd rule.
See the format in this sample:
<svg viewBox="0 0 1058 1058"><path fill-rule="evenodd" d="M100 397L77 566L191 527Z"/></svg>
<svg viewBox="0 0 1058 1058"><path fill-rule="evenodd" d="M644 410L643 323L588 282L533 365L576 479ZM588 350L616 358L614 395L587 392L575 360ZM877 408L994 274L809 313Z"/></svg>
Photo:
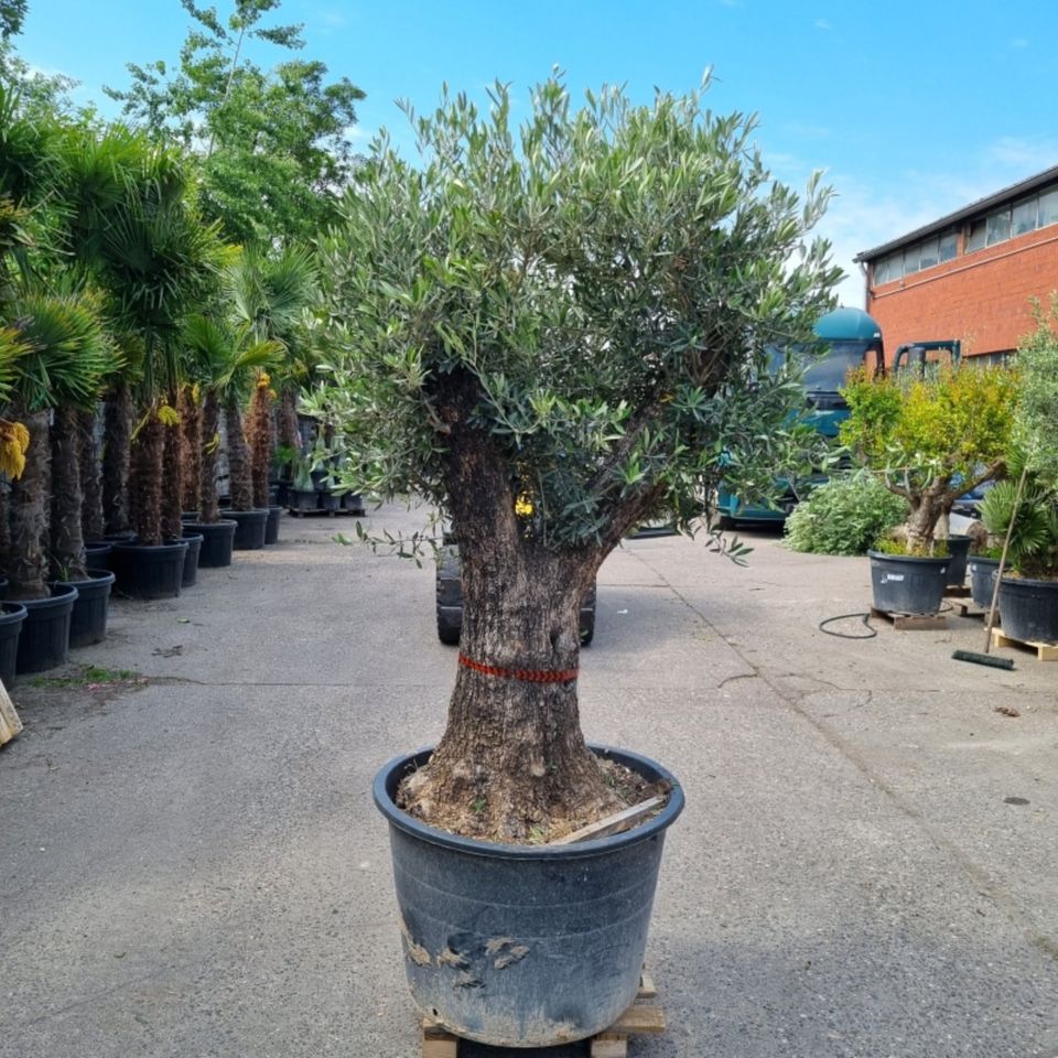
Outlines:
<svg viewBox="0 0 1058 1058"><path fill-rule="evenodd" d="M572 845L503 845L427 827L393 803L430 749L375 779L389 821L404 969L419 1008L457 1036L506 1047L584 1039L635 998L666 829L679 782L646 757L601 756L667 779L665 810L635 830Z"/></svg>

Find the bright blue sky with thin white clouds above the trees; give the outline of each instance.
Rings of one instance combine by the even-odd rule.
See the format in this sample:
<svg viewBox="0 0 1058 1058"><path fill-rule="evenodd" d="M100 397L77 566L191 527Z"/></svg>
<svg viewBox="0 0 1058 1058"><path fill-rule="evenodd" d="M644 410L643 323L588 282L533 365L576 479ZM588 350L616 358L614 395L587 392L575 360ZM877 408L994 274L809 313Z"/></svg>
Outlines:
<svg viewBox="0 0 1058 1058"><path fill-rule="evenodd" d="M712 66L710 106L759 114L775 175L800 188L822 169L838 192L820 230L846 304L863 301L860 250L1058 164L1058 4L1038 0L284 0L278 18L367 93L365 142L381 126L410 142L395 100L428 109L442 82L484 96L499 78L525 106L558 64L577 97L620 83L647 101ZM126 85L126 62L174 61L188 22L179 0L30 0L18 46L106 110L100 86Z"/></svg>

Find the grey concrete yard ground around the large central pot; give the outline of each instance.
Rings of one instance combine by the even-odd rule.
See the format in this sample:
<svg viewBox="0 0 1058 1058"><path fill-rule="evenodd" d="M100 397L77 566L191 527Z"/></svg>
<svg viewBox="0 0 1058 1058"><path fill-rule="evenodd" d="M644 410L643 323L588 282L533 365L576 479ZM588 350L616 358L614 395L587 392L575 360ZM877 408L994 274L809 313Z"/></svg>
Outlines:
<svg viewBox="0 0 1058 1058"><path fill-rule="evenodd" d="M370 782L440 734L455 651L432 570L341 529L288 518L179 600L116 602L75 660L145 683L15 687L2 1058L420 1054ZM648 949L669 1032L631 1054L1055 1058L1058 665L953 661L965 618L822 635L866 560L753 542L738 569L631 541L600 575L586 734L688 796Z"/></svg>

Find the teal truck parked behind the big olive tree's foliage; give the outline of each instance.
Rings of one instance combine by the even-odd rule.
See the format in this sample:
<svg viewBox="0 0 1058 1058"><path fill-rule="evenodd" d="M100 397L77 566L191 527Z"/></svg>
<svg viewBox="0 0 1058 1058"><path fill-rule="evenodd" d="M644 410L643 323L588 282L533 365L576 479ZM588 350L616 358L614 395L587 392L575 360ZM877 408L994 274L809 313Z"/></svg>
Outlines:
<svg viewBox="0 0 1058 1058"><path fill-rule="evenodd" d="M849 406L840 392L845 376L860 367L877 373L885 370L882 327L873 316L860 309L835 309L820 317L813 330L816 337L824 342L828 348L827 355L805 373L805 397L810 409L808 422L823 436L836 438L842 419L849 417ZM902 349L905 348L914 347L902 346ZM913 359L909 353L906 355L909 360ZM798 495L789 483L779 484L786 487L774 507L744 505L737 496L721 486L716 492L721 525L732 528L736 521L784 521L797 505Z"/></svg>

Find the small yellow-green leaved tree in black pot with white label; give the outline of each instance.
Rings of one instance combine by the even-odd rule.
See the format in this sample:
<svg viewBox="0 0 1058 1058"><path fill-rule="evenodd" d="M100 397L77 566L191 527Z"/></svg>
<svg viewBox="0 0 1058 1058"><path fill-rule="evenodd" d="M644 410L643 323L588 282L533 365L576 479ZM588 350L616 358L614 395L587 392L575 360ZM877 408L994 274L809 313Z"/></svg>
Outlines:
<svg viewBox="0 0 1058 1058"><path fill-rule="evenodd" d="M910 507L898 537L867 552L878 609L939 609L951 558L938 522L958 496L1003 468L1017 385L1007 368L962 361L925 375L859 373L842 390L849 418L841 440Z"/></svg>

